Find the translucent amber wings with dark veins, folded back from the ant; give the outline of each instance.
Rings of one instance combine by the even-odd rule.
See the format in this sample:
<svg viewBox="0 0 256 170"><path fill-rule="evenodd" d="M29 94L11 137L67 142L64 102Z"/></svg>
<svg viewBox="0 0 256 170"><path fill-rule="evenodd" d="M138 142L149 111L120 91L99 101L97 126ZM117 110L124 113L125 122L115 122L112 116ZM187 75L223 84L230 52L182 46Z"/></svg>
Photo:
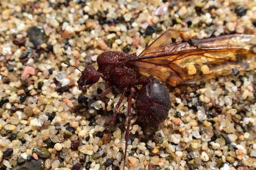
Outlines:
<svg viewBox="0 0 256 170"><path fill-rule="evenodd" d="M172 33L185 32L168 29L139 57L129 61L130 64L142 75L154 75L171 86L230 74L232 69L243 71L255 68L253 35L199 39L189 45L188 42L172 42L180 36L174 38Z"/></svg>

